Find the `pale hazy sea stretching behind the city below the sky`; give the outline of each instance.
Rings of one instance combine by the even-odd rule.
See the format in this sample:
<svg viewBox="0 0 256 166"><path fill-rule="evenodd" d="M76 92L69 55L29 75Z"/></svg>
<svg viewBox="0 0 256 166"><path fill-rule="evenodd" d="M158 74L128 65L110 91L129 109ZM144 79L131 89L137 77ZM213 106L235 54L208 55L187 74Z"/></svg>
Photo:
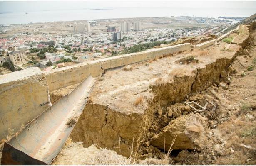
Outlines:
<svg viewBox="0 0 256 166"><path fill-rule="evenodd" d="M249 17L256 8L178 8L178 7L113 7L41 10L0 13L0 24L28 24L73 20L97 20L132 17Z"/></svg>

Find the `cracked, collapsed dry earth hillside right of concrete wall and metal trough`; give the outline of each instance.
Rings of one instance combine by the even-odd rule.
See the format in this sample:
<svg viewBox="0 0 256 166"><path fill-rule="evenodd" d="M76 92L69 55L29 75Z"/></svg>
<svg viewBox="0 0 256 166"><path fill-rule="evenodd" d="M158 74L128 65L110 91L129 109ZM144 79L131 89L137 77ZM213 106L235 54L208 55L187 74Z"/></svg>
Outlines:
<svg viewBox="0 0 256 166"><path fill-rule="evenodd" d="M128 158L123 164L255 164L256 32L242 25L229 37L230 44L106 71L70 138L85 151L116 151ZM54 164L72 159L74 146Z"/></svg>

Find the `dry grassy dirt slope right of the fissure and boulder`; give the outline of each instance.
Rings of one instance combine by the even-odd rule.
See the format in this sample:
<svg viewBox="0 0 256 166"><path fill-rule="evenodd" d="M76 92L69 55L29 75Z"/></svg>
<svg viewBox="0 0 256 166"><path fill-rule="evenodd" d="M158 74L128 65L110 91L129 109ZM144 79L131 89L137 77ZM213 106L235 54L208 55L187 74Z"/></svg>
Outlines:
<svg viewBox="0 0 256 166"><path fill-rule="evenodd" d="M174 158L177 164L255 165L256 164L256 32L231 67L233 74L218 86L211 86L194 98L208 98L218 103L213 115L209 141L215 145L204 149L199 160L189 151ZM207 116L207 115L206 115ZM210 117L211 114L208 115ZM244 146L246 145L246 146ZM193 153L194 154L194 153Z"/></svg>

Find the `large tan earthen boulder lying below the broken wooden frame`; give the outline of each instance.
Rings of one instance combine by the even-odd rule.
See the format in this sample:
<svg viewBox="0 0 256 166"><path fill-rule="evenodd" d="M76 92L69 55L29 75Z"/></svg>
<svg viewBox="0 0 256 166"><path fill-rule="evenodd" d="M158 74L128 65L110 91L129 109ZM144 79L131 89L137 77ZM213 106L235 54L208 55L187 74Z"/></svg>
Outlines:
<svg viewBox="0 0 256 166"><path fill-rule="evenodd" d="M150 144L168 151L175 135L176 141L172 149L201 150L206 144L207 119L200 114L190 113L172 120L162 131L152 137ZM165 140L164 140L165 139ZM165 145L164 145L165 143Z"/></svg>

